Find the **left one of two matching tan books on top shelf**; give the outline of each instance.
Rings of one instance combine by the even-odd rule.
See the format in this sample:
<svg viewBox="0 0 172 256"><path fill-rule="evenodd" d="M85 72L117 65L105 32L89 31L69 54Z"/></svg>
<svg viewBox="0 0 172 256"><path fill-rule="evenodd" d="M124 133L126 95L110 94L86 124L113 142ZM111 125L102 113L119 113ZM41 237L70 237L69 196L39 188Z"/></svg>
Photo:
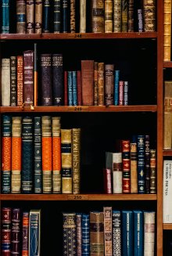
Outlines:
<svg viewBox="0 0 172 256"><path fill-rule="evenodd" d="M27 0L27 34L34 33L34 0Z"/></svg>

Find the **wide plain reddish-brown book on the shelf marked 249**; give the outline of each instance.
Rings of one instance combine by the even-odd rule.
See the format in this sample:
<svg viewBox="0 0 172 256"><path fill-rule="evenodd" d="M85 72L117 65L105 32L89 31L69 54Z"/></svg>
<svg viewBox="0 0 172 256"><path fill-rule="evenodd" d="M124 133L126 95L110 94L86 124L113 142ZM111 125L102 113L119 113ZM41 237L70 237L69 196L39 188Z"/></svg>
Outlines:
<svg viewBox="0 0 172 256"><path fill-rule="evenodd" d="M81 60L82 103L93 105L94 60Z"/></svg>

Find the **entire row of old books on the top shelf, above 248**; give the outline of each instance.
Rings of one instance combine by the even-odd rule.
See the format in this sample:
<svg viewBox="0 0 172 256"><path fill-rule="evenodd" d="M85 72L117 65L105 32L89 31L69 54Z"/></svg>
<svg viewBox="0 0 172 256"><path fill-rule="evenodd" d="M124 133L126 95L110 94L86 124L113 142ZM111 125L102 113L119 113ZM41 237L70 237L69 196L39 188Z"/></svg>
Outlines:
<svg viewBox="0 0 172 256"><path fill-rule="evenodd" d="M20 34L156 30L156 0L16 0L12 6L9 0L2 0L2 34L11 31L9 17L13 8L16 8L16 33Z"/></svg>

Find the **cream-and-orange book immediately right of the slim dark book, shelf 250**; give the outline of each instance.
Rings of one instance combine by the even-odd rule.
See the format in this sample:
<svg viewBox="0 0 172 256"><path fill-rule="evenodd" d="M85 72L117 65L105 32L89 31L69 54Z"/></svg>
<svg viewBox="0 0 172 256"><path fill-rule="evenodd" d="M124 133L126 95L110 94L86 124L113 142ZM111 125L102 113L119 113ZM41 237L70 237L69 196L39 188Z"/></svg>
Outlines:
<svg viewBox="0 0 172 256"><path fill-rule="evenodd" d="M52 117L41 117L43 193L52 193Z"/></svg>

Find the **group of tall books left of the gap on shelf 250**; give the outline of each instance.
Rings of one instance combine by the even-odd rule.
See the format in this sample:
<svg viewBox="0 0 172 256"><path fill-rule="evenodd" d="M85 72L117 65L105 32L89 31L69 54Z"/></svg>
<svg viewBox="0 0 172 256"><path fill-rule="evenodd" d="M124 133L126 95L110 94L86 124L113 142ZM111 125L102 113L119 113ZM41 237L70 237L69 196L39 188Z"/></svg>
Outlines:
<svg viewBox="0 0 172 256"><path fill-rule="evenodd" d="M60 117L2 117L2 193L80 193L81 128Z"/></svg>

